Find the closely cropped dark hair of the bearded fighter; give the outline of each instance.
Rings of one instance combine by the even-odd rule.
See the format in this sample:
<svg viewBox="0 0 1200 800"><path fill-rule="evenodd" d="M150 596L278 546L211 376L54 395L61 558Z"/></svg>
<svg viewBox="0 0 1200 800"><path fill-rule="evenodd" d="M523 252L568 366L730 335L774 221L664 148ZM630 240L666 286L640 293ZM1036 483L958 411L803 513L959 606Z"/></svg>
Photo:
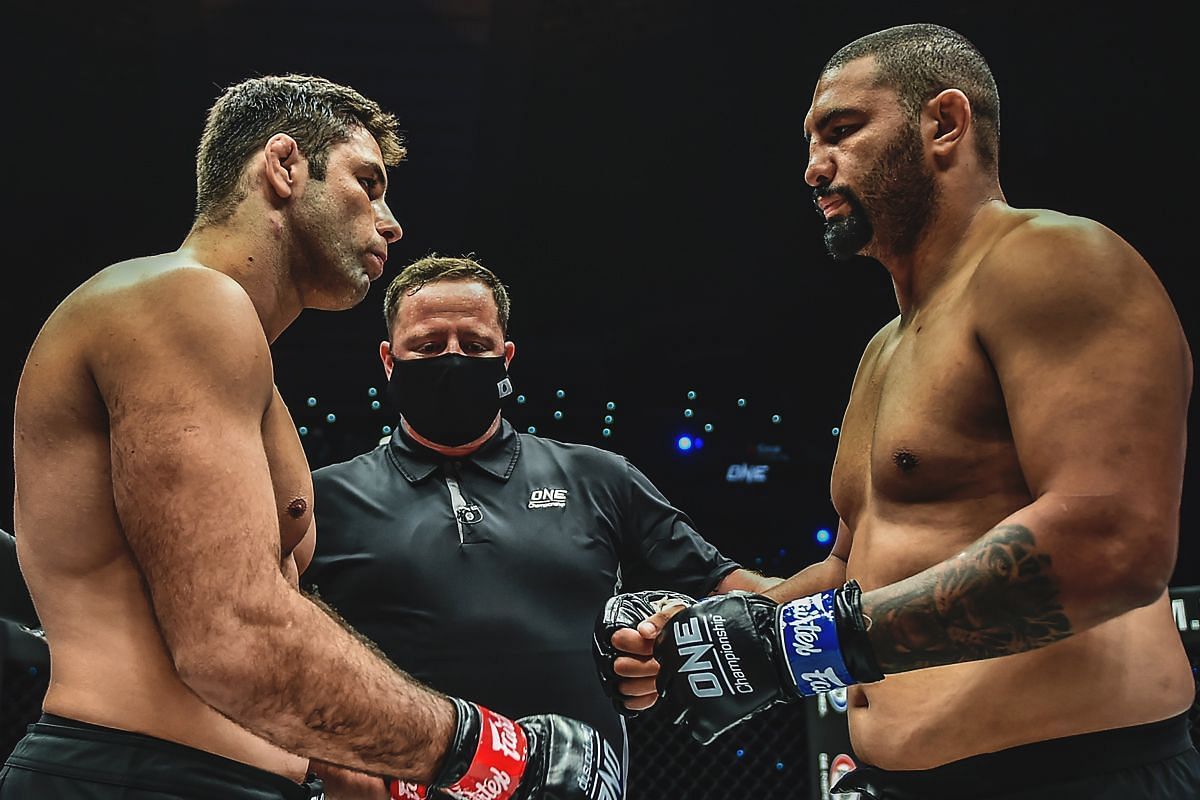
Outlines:
<svg viewBox="0 0 1200 800"><path fill-rule="evenodd" d="M838 50L822 74L863 56L874 56L880 85L895 89L916 118L920 107L944 89L959 89L971 101L976 145L984 166L1000 160L1000 91L983 54L962 34L926 23L898 25L854 40Z"/></svg>

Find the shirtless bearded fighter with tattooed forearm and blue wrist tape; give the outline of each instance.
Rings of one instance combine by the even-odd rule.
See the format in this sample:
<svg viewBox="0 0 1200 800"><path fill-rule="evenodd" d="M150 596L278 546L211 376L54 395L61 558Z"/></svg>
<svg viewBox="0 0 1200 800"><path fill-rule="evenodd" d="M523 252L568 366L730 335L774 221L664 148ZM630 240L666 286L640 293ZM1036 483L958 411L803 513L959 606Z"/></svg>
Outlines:
<svg viewBox="0 0 1200 800"><path fill-rule="evenodd" d="M866 765L844 792L1200 796L1168 599L1192 357L1163 285L1104 225L1008 205L996 84L954 31L847 44L804 127L829 253L883 264L900 307L841 425L836 541L766 596L654 616L656 661L613 634L626 704L654 702L661 663L712 741L847 685ZM743 681L701 678L704 652Z"/></svg>

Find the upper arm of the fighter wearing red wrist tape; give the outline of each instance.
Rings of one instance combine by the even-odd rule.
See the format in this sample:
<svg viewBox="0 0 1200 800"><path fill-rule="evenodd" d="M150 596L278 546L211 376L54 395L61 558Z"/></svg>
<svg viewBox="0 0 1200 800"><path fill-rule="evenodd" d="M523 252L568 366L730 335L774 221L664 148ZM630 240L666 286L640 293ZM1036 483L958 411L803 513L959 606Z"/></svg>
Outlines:
<svg viewBox="0 0 1200 800"><path fill-rule="evenodd" d="M133 314L138 330L94 367L118 517L173 649L216 630L205 618L230 608L226 597L253 602L256 575L280 561L262 438L269 349L248 302L191 289L202 296L188 308Z"/></svg>

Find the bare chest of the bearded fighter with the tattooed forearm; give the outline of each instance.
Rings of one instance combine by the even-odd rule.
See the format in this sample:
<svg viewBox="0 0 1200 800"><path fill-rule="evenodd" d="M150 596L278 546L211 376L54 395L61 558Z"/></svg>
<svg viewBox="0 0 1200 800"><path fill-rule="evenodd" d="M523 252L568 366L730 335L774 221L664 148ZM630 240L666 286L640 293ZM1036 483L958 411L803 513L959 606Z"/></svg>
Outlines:
<svg viewBox="0 0 1200 800"><path fill-rule="evenodd" d="M931 314L895 326L864 356L840 431L834 505L853 528L872 503L953 500L1010 456L1000 383L970 320Z"/></svg>

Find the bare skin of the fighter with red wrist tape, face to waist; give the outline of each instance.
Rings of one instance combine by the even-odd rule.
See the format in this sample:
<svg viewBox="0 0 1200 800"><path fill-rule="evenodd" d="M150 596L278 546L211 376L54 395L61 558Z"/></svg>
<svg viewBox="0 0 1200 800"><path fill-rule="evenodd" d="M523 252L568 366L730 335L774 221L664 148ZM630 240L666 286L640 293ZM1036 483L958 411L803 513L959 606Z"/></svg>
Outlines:
<svg viewBox="0 0 1200 800"><path fill-rule="evenodd" d="M312 759L350 796L434 776L450 700L298 589L313 488L270 353L304 308L348 308L382 273L401 235L383 174L365 130L323 180L275 134L230 222L101 270L38 332L14 517L46 711L294 781Z"/></svg>

